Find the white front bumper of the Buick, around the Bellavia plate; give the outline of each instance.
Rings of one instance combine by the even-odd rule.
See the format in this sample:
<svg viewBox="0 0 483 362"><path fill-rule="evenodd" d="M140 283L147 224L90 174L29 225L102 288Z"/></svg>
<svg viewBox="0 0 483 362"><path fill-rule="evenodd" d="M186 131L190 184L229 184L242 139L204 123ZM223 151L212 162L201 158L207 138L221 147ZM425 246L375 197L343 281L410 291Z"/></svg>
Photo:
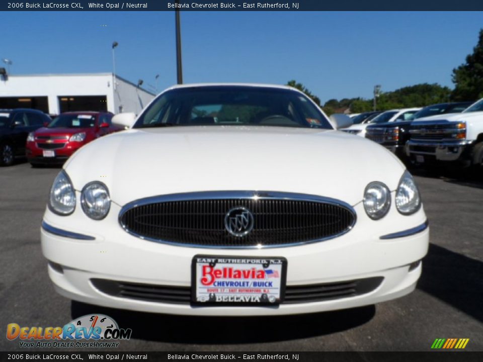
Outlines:
<svg viewBox="0 0 483 362"><path fill-rule="evenodd" d="M414 262L421 260L428 249L429 229L423 227L414 232L416 225L424 225L426 221L424 211L421 209L415 215L405 217L411 222L400 225L400 228L388 230L378 226L367 228L363 206L358 204L355 210L359 215L358 223L353 230L335 239L293 247L233 249L228 252L233 256L285 257L288 261L287 288L383 278L376 289L365 294L316 302L282 303L278 307L199 307L101 292L93 280L188 288L194 255L227 254L226 249L173 246L134 237L117 223L120 207L115 204L105 219L107 223L86 220L83 227L80 224L70 227L69 232L74 234L69 236L62 232L66 227L59 224L61 217L47 210L46 224L41 229L42 251L49 260L49 276L61 295L89 304L144 312L230 316L300 314L371 305L412 292L421 275L421 263ZM388 223L391 224L390 220ZM414 225L409 227L411 223ZM92 230L92 233L85 235L85 230ZM411 232L397 233L404 230ZM89 238L81 238L78 234ZM383 238L388 235L390 238Z"/></svg>

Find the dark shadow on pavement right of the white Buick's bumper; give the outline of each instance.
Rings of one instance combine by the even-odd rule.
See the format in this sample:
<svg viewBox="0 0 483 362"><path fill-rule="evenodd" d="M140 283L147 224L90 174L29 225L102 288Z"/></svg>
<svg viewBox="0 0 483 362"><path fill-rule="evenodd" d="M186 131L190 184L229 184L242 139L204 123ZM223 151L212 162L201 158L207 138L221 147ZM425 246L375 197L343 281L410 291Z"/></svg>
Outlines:
<svg viewBox="0 0 483 362"><path fill-rule="evenodd" d="M483 322L483 262L430 244L418 289Z"/></svg>

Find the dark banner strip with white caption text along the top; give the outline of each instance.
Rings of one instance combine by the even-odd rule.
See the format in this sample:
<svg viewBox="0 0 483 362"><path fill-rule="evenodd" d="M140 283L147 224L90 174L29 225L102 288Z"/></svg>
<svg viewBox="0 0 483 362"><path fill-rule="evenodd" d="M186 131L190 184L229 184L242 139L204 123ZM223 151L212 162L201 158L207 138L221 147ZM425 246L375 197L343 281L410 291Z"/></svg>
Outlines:
<svg viewBox="0 0 483 362"><path fill-rule="evenodd" d="M2 1L0 11L483 11L480 0L13 0Z"/></svg>

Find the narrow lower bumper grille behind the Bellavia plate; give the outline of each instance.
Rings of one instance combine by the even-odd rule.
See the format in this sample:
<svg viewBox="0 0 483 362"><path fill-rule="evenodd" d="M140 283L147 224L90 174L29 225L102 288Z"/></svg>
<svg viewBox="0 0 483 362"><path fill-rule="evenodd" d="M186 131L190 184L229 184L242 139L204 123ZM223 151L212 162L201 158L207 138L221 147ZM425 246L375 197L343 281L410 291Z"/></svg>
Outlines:
<svg viewBox="0 0 483 362"><path fill-rule="evenodd" d="M313 303L350 298L370 293L379 287L384 278L373 277L337 283L287 286L282 304ZM113 297L168 304L189 304L191 287L173 287L155 284L91 279L93 286Z"/></svg>

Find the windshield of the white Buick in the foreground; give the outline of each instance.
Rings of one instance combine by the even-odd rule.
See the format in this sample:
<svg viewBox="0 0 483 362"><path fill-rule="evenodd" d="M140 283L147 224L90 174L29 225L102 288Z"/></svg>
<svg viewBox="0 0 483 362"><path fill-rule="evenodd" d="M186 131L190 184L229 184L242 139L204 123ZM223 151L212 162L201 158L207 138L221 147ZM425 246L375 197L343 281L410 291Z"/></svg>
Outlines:
<svg viewBox="0 0 483 362"><path fill-rule="evenodd" d="M202 86L160 95L134 128L163 126L279 126L332 129L304 95L283 88Z"/></svg>

